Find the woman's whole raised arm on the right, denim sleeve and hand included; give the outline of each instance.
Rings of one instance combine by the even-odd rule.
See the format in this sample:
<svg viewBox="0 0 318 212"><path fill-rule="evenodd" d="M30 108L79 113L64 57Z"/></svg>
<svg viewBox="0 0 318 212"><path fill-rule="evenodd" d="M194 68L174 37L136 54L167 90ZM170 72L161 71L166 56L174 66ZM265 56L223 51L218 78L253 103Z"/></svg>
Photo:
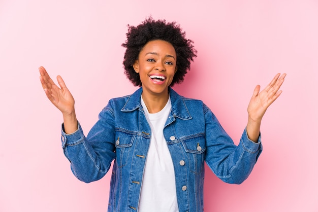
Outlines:
<svg viewBox="0 0 318 212"><path fill-rule="evenodd" d="M256 86L247 109L248 123L238 146L234 145L211 112L205 114L206 137L209 138L206 162L222 181L240 184L252 171L262 152L261 120L269 105L281 94L278 90L286 75L279 76L277 74L262 92L260 86Z"/></svg>

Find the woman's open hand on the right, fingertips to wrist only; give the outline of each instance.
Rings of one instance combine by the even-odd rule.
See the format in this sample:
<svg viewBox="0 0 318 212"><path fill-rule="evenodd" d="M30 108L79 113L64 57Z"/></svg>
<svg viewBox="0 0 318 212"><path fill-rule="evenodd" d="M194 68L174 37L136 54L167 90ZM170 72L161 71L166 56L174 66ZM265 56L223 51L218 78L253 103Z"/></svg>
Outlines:
<svg viewBox="0 0 318 212"><path fill-rule="evenodd" d="M271 103L273 103L281 94L279 88L286 75L283 74L280 78L279 76L280 74L277 74L261 92L260 86L256 86L247 108L248 115L252 120L260 121L269 105L271 105Z"/></svg>

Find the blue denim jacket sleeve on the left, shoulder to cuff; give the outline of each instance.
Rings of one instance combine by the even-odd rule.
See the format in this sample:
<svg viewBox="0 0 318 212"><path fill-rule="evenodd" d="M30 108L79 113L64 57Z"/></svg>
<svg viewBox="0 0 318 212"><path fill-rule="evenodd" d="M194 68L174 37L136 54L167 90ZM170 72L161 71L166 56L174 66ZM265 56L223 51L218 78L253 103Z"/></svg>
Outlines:
<svg viewBox="0 0 318 212"><path fill-rule="evenodd" d="M61 127L62 147L71 162L71 169L77 179L85 183L103 178L115 158L115 124L110 108L99 114L98 122L87 137L81 125L72 134L66 134Z"/></svg>

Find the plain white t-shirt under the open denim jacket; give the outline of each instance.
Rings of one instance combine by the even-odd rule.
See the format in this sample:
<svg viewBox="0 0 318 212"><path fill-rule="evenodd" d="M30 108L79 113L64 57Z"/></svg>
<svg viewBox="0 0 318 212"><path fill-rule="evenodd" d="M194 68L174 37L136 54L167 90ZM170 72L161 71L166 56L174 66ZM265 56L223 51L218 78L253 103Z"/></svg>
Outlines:
<svg viewBox="0 0 318 212"><path fill-rule="evenodd" d="M164 137L164 126L171 111L171 100L158 113L149 114L141 98L151 128L151 141L141 185L139 212L178 212L174 167Z"/></svg>

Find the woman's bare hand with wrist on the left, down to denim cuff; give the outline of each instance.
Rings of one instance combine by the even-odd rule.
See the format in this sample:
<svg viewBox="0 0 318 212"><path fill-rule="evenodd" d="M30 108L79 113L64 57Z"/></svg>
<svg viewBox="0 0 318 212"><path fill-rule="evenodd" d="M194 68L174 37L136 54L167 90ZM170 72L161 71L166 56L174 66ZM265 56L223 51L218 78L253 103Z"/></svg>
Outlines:
<svg viewBox="0 0 318 212"><path fill-rule="evenodd" d="M75 101L71 92L60 76L56 78L59 88L44 67L39 67L39 71L40 81L46 96L63 114L65 132L68 134L75 132L78 129L78 123L75 115Z"/></svg>

